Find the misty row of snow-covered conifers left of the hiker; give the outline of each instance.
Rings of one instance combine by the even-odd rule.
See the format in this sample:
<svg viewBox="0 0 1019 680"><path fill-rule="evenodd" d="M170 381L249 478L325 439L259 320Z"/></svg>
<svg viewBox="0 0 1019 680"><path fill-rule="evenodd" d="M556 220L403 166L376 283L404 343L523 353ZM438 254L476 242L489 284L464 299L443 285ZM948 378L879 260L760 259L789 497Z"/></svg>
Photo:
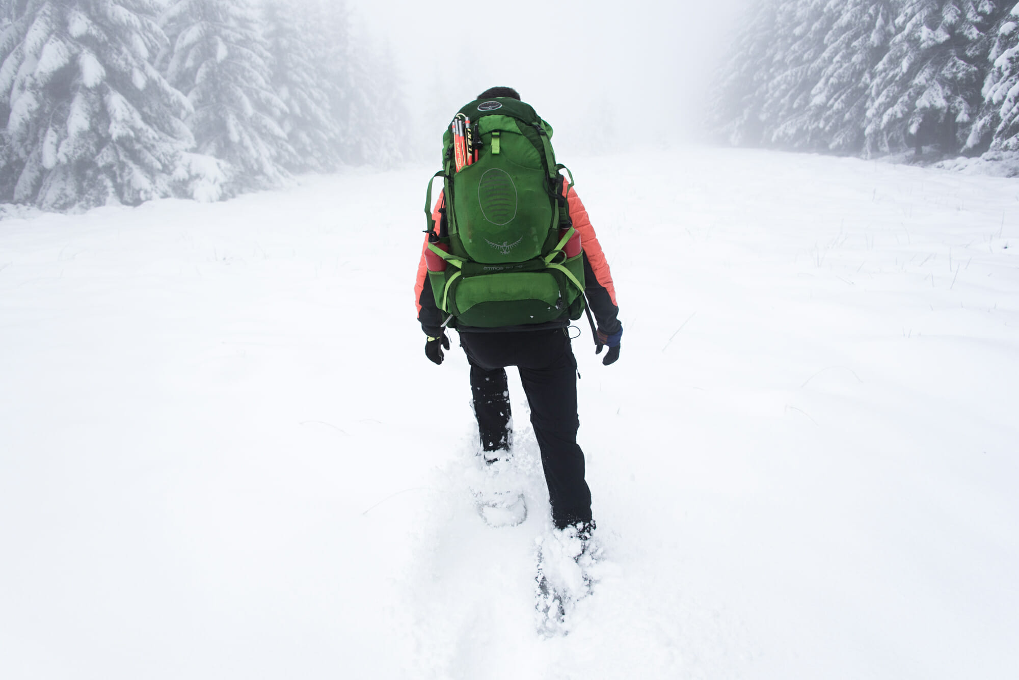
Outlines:
<svg viewBox="0 0 1019 680"><path fill-rule="evenodd" d="M334 0L0 0L0 203L216 201L389 166L400 86L366 43Z"/></svg>

